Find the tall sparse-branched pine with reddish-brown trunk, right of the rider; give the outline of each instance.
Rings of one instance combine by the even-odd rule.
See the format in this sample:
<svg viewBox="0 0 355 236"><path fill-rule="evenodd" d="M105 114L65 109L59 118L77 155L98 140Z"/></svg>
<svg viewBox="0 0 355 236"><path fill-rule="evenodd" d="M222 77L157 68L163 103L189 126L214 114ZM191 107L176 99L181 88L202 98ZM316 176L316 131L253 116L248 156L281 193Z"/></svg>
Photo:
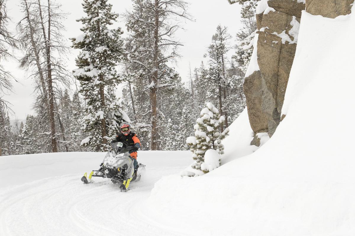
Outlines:
<svg viewBox="0 0 355 236"><path fill-rule="evenodd" d="M174 87L176 72L167 62L179 57L178 48L182 46L175 33L181 28L181 20L189 20L187 3L183 0L133 0L132 12L127 12L127 29L130 37L127 49L130 69L141 71L137 78L136 89L142 94L142 104L146 112L137 108L144 117L137 117L137 126L149 129L147 138L152 150L159 150L162 120L159 120L164 97L161 91ZM142 89L143 88L143 89ZM141 91L144 91L143 93ZM137 93L136 93L137 94ZM141 103L138 102L137 105ZM141 119L141 121L140 121ZM173 120L174 121L174 120Z"/></svg>

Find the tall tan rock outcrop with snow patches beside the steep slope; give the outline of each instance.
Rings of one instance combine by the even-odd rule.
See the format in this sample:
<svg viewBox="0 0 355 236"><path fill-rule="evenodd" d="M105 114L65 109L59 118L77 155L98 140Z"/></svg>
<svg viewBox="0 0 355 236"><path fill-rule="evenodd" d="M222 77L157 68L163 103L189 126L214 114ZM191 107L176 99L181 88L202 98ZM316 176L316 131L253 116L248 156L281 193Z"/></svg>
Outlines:
<svg viewBox="0 0 355 236"><path fill-rule="evenodd" d="M294 0L264 1L266 9L257 15L257 64L259 71L245 78L249 120L254 131L271 137L281 119L286 86L296 51L301 11L305 4ZM251 62L253 63L253 62ZM254 62L255 63L255 62Z"/></svg>

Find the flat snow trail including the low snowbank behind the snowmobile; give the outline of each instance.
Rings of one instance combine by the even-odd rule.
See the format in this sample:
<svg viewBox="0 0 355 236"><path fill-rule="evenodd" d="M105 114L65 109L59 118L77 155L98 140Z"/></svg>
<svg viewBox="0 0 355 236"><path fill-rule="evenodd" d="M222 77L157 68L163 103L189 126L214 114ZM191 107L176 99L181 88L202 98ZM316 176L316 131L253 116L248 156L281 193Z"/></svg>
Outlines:
<svg viewBox="0 0 355 236"><path fill-rule="evenodd" d="M138 161L147 165L146 175L132 182L129 192L109 179L80 181L104 155L0 157L0 235L181 235L152 223L140 209L156 181L191 163L190 152L141 151Z"/></svg>

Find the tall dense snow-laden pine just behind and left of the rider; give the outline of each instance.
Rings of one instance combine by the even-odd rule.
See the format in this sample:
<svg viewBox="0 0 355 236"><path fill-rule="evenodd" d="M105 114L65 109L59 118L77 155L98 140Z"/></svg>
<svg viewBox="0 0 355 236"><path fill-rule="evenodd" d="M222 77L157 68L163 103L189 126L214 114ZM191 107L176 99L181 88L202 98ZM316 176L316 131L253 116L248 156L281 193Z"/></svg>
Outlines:
<svg viewBox="0 0 355 236"><path fill-rule="evenodd" d="M121 28L108 28L117 21L118 14L112 12L107 0L84 0L82 6L86 17L77 21L84 25L83 34L71 39L72 47L81 49L74 71L86 103L82 128L87 137L81 144L99 151L105 149L107 136L119 132L123 120L114 90L122 81L115 67L124 58L125 48Z"/></svg>

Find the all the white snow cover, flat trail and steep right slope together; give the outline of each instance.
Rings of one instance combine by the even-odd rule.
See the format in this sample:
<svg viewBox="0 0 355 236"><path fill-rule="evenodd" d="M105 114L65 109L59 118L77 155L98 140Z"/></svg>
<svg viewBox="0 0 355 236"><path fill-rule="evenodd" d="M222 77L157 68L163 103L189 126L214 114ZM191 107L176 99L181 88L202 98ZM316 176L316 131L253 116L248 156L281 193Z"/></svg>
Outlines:
<svg viewBox="0 0 355 236"><path fill-rule="evenodd" d="M122 193L80 182L102 153L0 157L0 235L355 235L353 15L302 13L286 118L257 150L244 111L211 173L140 152L146 178Z"/></svg>

